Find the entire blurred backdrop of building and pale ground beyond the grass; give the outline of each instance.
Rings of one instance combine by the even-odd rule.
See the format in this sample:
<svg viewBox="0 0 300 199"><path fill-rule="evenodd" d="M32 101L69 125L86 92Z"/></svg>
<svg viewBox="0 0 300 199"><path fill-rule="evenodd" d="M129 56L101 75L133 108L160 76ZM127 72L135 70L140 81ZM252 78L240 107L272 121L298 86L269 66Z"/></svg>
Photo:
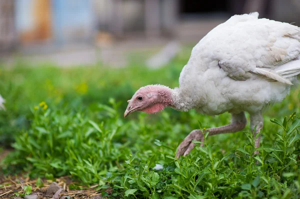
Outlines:
<svg viewBox="0 0 300 199"><path fill-rule="evenodd" d="M299 24L299 10L299 0L0 0L0 59L120 67L128 51L165 47L146 62L155 67L233 14Z"/></svg>

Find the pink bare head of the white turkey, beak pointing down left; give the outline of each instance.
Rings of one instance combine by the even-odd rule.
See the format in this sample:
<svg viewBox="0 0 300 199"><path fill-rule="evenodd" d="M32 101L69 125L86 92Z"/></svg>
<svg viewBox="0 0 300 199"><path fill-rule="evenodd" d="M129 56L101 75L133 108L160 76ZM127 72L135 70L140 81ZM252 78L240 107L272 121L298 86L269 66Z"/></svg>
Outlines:
<svg viewBox="0 0 300 199"><path fill-rule="evenodd" d="M147 85L138 89L132 98L128 100L128 106L124 117L134 111L155 113L166 106L173 106L172 92L166 86Z"/></svg>

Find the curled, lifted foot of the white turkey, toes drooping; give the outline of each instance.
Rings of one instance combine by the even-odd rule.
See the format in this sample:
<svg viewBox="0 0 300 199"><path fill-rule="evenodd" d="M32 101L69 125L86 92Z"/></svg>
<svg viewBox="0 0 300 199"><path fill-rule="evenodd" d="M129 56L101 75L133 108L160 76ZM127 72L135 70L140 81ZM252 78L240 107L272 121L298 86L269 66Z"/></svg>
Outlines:
<svg viewBox="0 0 300 199"><path fill-rule="evenodd" d="M199 129L191 131L180 143L176 153L177 159L179 159L179 157L182 155L188 155L189 152L195 147L196 143L192 143L193 140L204 142L204 135ZM203 144L201 144L201 147L202 146Z"/></svg>

